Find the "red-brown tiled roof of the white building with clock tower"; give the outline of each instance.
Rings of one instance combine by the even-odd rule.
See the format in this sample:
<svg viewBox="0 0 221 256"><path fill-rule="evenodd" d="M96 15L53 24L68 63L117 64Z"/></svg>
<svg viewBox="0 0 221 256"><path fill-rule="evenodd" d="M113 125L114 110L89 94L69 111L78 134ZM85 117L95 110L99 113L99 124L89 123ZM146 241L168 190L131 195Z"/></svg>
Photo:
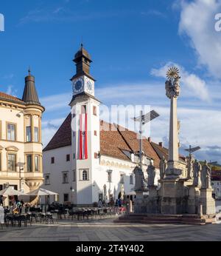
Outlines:
<svg viewBox="0 0 221 256"><path fill-rule="evenodd" d="M55 133L49 144L43 151L57 149L62 146L71 145L71 114ZM108 124L105 121L100 121L100 153L101 155L108 155L122 160L129 160L123 150L127 152L138 152L139 141L136 132L128 129L122 131L119 126ZM143 141L143 150L145 154L154 160L155 166L159 166L160 158L155 152L147 139Z"/></svg>

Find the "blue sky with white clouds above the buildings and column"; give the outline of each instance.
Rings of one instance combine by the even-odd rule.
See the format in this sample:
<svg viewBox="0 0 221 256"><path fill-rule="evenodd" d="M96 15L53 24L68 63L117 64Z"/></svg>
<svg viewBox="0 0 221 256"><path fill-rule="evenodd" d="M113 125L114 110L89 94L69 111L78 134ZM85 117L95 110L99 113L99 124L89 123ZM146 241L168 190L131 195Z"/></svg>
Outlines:
<svg viewBox="0 0 221 256"><path fill-rule="evenodd" d="M198 158L221 156L221 32L215 0L1 1L0 90L21 97L30 65L46 107L44 144L69 112L71 61L83 38L91 53L96 95L104 104L150 104L161 117L152 140L168 141L166 68L181 70L178 116L182 148L200 145Z"/></svg>

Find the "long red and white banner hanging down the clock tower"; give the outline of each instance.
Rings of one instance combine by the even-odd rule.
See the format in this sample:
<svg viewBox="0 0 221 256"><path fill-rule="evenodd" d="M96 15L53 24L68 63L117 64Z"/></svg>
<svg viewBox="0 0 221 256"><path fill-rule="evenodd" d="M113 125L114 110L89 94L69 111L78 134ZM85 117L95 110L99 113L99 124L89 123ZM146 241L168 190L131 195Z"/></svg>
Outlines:
<svg viewBox="0 0 221 256"><path fill-rule="evenodd" d="M88 159L87 114L80 114L79 159Z"/></svg>

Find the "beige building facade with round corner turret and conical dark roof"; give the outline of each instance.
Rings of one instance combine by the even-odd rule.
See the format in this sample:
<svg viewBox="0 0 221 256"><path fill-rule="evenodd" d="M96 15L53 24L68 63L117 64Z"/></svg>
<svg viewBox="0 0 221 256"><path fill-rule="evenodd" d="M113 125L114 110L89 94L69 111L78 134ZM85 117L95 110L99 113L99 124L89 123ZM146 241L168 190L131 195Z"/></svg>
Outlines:
<svg viewBox="0 0 221 256"><path fill-rule="evenodd" d="M35 78L25 78L22 99L0 92L0 190L22 192L43 183L41 117Z"/></svg>

